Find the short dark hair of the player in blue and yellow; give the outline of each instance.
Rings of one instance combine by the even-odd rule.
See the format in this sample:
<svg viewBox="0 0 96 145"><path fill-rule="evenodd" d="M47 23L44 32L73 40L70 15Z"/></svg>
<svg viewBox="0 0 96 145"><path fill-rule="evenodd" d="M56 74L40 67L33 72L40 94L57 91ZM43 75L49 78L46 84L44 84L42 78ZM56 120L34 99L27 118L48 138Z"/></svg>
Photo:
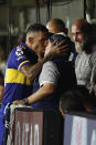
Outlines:
<svg viewBox="0 0 96 145"><path fill-rule="evenodd" d="M41 23L31 24L31 25L28 28L26 33L29 33L29 32L39 32L39 31L49 33L49 30L46 29L46 27L43 25L43 24L41 24Z"/></svg>

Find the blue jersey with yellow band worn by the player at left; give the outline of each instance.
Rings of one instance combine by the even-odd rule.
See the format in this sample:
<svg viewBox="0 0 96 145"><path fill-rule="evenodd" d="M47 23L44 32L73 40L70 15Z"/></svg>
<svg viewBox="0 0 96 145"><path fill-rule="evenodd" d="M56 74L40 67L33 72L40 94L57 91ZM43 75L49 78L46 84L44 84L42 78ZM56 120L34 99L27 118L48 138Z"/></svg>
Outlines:
<svg viewBox="0 0 96 145"><path fill-rule="evenodd" d="M29 79L21 72L21 68L26 64L34 64L38 61L36 54L29 49L25 43L15 46L8 59L6 69L6 91L2 104L22 100L31 94L32 86Z"/></svg>

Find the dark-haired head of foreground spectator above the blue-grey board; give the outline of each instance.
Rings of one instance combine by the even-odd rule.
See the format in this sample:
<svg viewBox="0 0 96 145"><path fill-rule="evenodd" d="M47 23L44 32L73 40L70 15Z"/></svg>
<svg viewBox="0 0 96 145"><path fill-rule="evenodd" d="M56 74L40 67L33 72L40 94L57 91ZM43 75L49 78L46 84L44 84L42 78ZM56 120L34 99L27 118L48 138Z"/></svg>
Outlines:
<svg viewBox="0 0 96 145"><path fill-rule="evenodd" d="M79 97L79 93L76 94L74 90L65 92L60 99L60 112L64 116L70 111L85 112L85 106Z"/></svg>

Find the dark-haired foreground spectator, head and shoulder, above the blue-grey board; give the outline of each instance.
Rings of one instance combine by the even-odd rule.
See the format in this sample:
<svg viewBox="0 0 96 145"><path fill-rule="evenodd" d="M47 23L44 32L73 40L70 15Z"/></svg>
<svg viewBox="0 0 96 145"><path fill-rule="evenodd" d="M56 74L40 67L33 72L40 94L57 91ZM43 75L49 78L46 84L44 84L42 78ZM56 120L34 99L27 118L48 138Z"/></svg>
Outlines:
<svg viewBox="0 0 96 145"><path fill-rule="evenodd" d="M96 114L96 96L92 96L84 85L77 85L60 99L62 115L68 111L79 111Z"/></svg>

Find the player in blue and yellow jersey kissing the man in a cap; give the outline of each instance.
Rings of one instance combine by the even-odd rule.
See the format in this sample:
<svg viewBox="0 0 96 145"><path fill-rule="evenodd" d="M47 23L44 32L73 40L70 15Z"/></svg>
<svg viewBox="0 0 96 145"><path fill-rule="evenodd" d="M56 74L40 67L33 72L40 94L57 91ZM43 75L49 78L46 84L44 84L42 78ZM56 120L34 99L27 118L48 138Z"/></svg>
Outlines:
<svg viewBox="0 0 96 145"><path fill-rule="evenodd" d="M52 51L43 58L44 49L47 43L49 31L42 24L30 25L26 30L25 42L13 48L11 51L6 70L6 89L0 110L0 145L4 131L4 107L8 103L22 100L32 92L32 80L36 76L44 62L60 53L58 49L51 45Z"/></svg>

